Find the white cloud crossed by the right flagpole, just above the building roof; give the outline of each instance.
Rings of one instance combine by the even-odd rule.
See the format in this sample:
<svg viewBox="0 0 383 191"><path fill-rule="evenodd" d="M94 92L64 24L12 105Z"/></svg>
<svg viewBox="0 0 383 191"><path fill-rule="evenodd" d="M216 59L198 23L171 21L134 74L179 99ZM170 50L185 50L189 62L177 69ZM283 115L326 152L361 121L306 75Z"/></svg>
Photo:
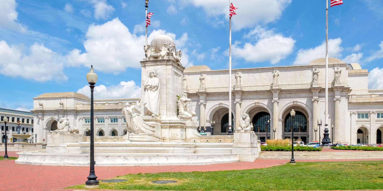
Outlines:
<svg viewBox="0 0 383 191"><path fill-rule="evenodd" d="M342 39L329 39L329 57L341 57L341 52L343 47ZM308 65L309 62L316 58L326 57L326 42L323 42L321 45L311 48L311 49L300 49L296 55L294 65Z"/></svg>

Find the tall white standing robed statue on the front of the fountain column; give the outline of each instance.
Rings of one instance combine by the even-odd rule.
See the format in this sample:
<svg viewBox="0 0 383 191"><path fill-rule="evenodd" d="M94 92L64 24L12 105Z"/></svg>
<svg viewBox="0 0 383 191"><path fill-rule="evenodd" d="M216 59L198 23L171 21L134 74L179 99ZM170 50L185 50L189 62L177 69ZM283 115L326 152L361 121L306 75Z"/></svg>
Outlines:
<svg viewBox="0 0 383 191"><path fill-rule="evenodd" d="M150 71L144 84L144 114L149 116L159 116L160 80L156 76L153 70Z"/></svg>

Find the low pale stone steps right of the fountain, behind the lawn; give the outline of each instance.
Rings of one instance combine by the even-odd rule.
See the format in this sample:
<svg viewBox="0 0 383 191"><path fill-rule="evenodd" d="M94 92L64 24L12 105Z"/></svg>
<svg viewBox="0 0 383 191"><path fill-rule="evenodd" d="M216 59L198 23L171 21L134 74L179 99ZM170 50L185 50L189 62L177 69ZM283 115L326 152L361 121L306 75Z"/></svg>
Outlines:
<svg viewBox="0 0 383 191"><path fill-rule="evenodd" d="M383 152L294 152L295 159L383 159ZM291 152L261 152L259 159L291 159Z"/></svg>

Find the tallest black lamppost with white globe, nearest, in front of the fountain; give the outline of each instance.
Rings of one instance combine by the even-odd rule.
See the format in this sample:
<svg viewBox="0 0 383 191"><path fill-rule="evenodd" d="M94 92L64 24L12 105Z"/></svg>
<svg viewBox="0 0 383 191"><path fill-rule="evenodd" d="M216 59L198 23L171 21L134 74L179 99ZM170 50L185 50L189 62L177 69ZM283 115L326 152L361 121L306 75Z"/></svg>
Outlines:
<svg viewBox="0 0 383 191"><path fill-rule="evenodd" d="M87 81L90 84L90 170L88 180L85 182L85 188L97 188L100 183L95 174L95 147L94 147L94 127L93 127L93 91L97 82L97 74L94 72L93 65L87 73Z"/></svg>

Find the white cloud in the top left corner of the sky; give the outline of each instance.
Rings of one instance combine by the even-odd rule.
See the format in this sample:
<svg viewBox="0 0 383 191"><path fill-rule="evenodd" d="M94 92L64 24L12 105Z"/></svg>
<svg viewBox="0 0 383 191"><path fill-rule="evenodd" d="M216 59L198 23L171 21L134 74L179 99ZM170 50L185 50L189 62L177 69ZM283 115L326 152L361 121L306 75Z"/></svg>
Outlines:
<svg viewBox="0 0 383 191"><path fill-rule="evenodd" d="M26 27L17 22L18 12L16 6L15 0L2 0L0 5L0 28L26 32Z"/></svg>

